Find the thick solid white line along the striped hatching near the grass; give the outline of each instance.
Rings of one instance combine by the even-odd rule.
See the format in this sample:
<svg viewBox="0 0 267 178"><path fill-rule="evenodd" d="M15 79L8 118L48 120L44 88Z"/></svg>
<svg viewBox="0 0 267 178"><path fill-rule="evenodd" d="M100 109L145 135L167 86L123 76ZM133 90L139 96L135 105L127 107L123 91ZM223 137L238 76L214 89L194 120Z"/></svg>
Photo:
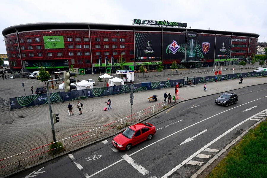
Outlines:
<svg viewBox="0 0 267 178"><path fill-rule="evenodd" d="M262 112L267 111L267 109L263 110ZM167 174L163 175L161 178L167 178L169 177L172 173L174 173L175 171L177 171L180 167L182 167L184 164L186 164L188 161L190 161L192 158L194 158L196 155L198 155L200 152L204 151L207 147L209 147L211 144L215 143L216 141L218 141L219 139L221 139L223 136L225 136L226 134L228 134L229 132L233 131L234 129L238 128L239 125L247 122L248 120L250 120L251 118L259 115L259 112L249 118L247 118L246 120L243 120L241 123L233 126L232 128L230 128L228 131L224 132L223 134L221 134L220 136L218 136L217 138L215 138L214 140L212 140L211 142L209 142L208 144L206 144L204 147L202 147L201 149L199 149L197 152L193 153L193 155L189 156L187 159L185 159L182 163L178 164L177 166L175 166L173 169L171 169ZM140 151L140 150L139 150Z"/></svg>

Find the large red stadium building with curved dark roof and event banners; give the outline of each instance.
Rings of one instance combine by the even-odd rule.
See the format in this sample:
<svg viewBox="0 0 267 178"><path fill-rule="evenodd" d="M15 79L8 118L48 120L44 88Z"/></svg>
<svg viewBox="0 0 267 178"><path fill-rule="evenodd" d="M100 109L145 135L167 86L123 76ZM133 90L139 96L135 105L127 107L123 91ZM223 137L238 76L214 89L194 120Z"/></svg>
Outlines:
<svg viewBox="0 0 267 178"><path fill-rule="evenodd" d="M165 23L165 22L163 22ZM29 23L2 31L12 71L68 71L80 74L115 71L120 66L147 70L250 63L257 51L258 34L173 26L115 25L101 23Z"/></svg>

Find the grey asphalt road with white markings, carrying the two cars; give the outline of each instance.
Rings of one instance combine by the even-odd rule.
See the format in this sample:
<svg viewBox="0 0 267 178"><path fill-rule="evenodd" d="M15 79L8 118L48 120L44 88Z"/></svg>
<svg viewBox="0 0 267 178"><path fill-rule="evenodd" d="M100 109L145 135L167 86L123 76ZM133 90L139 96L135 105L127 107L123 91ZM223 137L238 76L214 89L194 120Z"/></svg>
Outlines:
<svg viewBox="0 0 267 178"><path fill-rule="evenodd" d="M229 107L215 104L219 94L184 101L147 120L157 133L128 152L117 151L109 138L13 177L191 177L236 139L240 129L264 118L266 88L234 90L238 102ZM191 141L182 144L185 140Z"/></svg>

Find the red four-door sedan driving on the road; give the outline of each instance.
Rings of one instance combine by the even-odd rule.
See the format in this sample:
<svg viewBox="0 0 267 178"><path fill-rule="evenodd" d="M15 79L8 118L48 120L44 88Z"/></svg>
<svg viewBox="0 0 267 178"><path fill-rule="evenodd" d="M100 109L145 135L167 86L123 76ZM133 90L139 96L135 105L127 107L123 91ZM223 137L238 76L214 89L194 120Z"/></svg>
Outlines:
<svg viewBox="0 0 267 178"><path fill-rule="evenodd" d="M156 133L156 128L150 123L138 123L127 128L123 133L115 136L112 144L118 150L131 150L132 146L151 140Z"/></svg>

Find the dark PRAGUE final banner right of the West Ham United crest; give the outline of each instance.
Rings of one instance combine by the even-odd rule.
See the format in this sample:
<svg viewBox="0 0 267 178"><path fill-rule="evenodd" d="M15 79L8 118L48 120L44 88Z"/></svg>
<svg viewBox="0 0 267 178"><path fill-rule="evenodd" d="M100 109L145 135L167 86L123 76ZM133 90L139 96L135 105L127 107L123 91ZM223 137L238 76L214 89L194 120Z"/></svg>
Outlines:
<svg viewBox="0 0 267 178"><path fill-rule="evenodd" d="M216 36L215 59L230 58L231 36Z"/></svg>

